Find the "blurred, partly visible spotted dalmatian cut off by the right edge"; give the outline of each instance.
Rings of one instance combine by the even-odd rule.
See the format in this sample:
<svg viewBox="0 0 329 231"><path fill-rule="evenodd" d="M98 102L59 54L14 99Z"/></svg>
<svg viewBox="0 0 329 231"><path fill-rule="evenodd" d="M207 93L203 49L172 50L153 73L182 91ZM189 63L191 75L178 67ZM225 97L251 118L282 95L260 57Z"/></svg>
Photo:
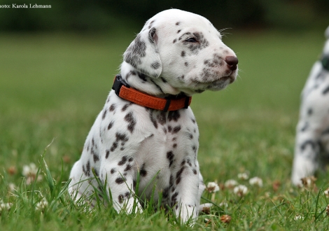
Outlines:
<svg viewBox="0 0 329 231"><path fill-rule="evenodd" d="M297 186L329 157L329 27L325 36L327 41L321 60L314 64L302 90L291 176L292 183Z"/></svg>

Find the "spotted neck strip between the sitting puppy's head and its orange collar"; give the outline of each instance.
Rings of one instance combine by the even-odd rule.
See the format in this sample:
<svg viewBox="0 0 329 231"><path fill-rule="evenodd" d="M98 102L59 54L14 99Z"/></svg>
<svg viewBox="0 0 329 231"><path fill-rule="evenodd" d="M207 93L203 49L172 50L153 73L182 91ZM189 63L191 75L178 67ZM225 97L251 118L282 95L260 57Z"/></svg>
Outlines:
<svg viewBox="0 0 329 231"><path fill-rule="evenodd" d="M161 76L159 78L146 76L127 62L121 64L120 73L123 80L140 92L162 98L175 97L176 95L183 94L181 90L169 85L165 78Z"/></svg>

